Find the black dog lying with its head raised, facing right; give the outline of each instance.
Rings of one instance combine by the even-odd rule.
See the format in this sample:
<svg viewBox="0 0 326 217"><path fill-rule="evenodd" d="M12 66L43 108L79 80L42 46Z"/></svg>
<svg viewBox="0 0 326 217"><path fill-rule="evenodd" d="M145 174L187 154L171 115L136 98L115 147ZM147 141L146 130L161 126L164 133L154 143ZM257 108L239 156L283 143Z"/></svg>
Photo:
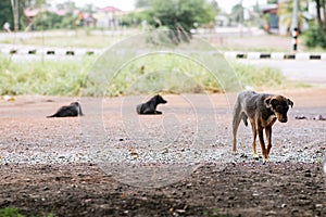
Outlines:
<svg viewBox="0 0 326 217"><path fill-rule="evenodd" d="M160 115L162 112L156 111L158 104L165 104L167 101L161 95L156 94L151 98L148 102L137 105L137 113L139 115Z"/></svg>

